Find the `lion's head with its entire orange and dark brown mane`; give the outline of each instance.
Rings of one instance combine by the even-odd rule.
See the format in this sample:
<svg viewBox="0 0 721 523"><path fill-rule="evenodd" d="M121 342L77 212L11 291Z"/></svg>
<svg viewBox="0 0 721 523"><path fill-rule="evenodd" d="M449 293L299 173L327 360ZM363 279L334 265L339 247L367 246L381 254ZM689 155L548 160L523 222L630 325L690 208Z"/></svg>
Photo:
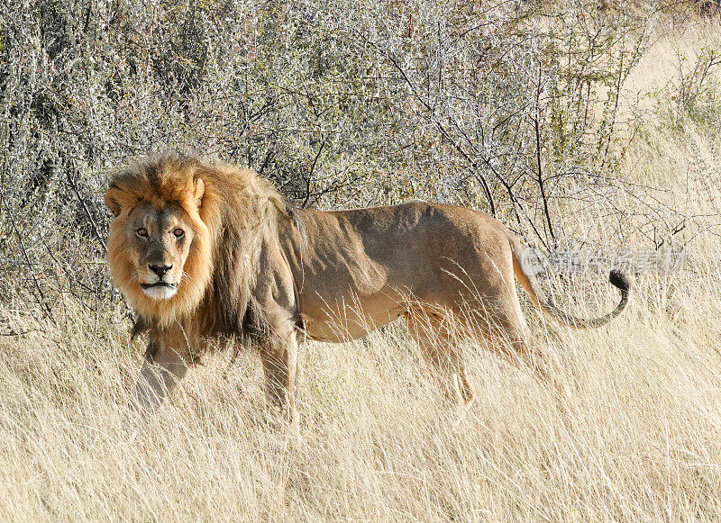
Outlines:
<svg viewBox="0 0 721 523"><path fill-rule="evenodd" d="M114 284L145 320L160 324L187 319L204 300L242 321L260 239L271 214L287 212L278 191L252 171L172 153L113 176L105 203L114 214Z"/></svg>

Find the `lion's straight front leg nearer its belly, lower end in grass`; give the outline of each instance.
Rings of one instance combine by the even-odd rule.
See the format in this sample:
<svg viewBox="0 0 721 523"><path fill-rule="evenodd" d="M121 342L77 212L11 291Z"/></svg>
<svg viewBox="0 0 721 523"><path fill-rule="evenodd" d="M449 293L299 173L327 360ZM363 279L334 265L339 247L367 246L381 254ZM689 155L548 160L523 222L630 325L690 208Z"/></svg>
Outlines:
<svg viewBox="0 0 721 523"><path fill-rule="evenodd" d="M265 374L268 401L277 407L291 427L297 428L296 376L297 338L295 333L265 340L260 346L260 361Z"/></svg>

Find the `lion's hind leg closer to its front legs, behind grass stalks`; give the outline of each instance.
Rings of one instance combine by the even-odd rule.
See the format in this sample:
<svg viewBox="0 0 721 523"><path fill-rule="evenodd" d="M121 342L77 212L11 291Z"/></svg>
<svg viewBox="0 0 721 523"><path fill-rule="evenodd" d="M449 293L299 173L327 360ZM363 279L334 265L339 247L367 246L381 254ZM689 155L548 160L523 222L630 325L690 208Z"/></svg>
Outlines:
<svg viewBox="0 0 721 523"><path fill-rule="evenodd" d="M461 405L473 401L466 367L450 314L415 310L404 314L408 331L421 348L443 395Z"/></svg>

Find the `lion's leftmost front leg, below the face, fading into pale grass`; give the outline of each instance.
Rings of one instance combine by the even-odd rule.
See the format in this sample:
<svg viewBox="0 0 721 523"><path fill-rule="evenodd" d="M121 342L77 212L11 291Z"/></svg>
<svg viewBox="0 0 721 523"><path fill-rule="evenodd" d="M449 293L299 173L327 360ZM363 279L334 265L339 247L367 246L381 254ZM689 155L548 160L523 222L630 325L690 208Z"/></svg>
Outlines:
<svg viewBox="0 0 721 523"><path fill-rule="evenodd" d="M173 347L161 337L151 341L135 384L135 399L143 410L156 410L187 373L187 348Z"/></svg>

